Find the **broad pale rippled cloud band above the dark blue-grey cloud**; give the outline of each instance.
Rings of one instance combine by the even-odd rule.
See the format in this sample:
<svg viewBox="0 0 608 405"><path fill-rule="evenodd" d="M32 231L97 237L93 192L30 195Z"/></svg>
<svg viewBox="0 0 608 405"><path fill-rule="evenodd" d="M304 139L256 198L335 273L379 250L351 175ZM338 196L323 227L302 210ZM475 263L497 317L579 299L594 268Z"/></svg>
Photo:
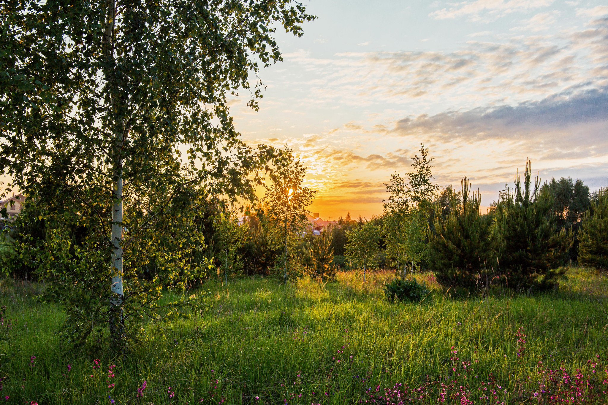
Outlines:
<svg viewBox="0 0 608 405"><path fill-rule="evenodd" d="M557 13L527 20L530 29ZM608 20L553 35L469 41L453 52L340 52L315 58L300 50L285 55L305 74L302 106L371 107L399 104L412 112L541 100L568 89L608 84ZM430 111L429 111L430 112ZM435 111L437 112L437 111ZM394 117L393 117L394 118Z"/></svg>

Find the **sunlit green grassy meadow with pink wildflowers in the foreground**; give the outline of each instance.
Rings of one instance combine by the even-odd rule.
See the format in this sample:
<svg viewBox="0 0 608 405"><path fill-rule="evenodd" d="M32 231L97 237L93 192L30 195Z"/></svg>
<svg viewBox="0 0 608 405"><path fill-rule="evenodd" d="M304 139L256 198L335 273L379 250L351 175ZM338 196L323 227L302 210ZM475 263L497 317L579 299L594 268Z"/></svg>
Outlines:
<svg viewBox="0 0 608 405"><path fill-rule="evenodd" d="M550 293L452 298L432 274L418 274L429 296L389 304L382 287L393 276L206 285L207 311L165 333L142 324L150 339L114 359L62 347L55 332L63 315L35 300L42 287L3 281L2 401L608 403L605 276L571 268Z"/></svg>

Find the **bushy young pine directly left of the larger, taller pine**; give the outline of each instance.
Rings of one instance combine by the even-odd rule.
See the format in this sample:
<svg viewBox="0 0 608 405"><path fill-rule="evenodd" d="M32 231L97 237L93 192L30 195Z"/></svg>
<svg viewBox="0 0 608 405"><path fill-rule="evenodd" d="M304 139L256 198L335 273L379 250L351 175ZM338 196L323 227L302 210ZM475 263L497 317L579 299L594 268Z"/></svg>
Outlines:
<svg viewBox="0 0 608 405"><path fill-rule="evenodd" d="M429 231L429 262L443 287L480 288L488 285L488 260L494 254L491 223L479 213L482 200L471 185L461 180L460 200L452 199L443 217L437 206L434 231Z"/></svg>

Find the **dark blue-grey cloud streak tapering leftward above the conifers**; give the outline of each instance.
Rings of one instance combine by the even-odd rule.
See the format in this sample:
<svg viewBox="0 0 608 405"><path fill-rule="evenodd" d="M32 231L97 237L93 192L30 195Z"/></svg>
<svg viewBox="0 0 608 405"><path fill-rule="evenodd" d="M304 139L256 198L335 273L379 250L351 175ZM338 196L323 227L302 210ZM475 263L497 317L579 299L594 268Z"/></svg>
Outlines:
<svg viewBox="0 0 608 405"><path fill-rule="evenodd" d="M604 87L576 94L554 94L517 106L478 107L403 118L396 122L395 132L402 136L424 134L452 142L531 141L543 143L548 149L586 145L587 152L580 149L571 152L589 156L595 148L608 155L607 111L608 87Z"/></svg>

